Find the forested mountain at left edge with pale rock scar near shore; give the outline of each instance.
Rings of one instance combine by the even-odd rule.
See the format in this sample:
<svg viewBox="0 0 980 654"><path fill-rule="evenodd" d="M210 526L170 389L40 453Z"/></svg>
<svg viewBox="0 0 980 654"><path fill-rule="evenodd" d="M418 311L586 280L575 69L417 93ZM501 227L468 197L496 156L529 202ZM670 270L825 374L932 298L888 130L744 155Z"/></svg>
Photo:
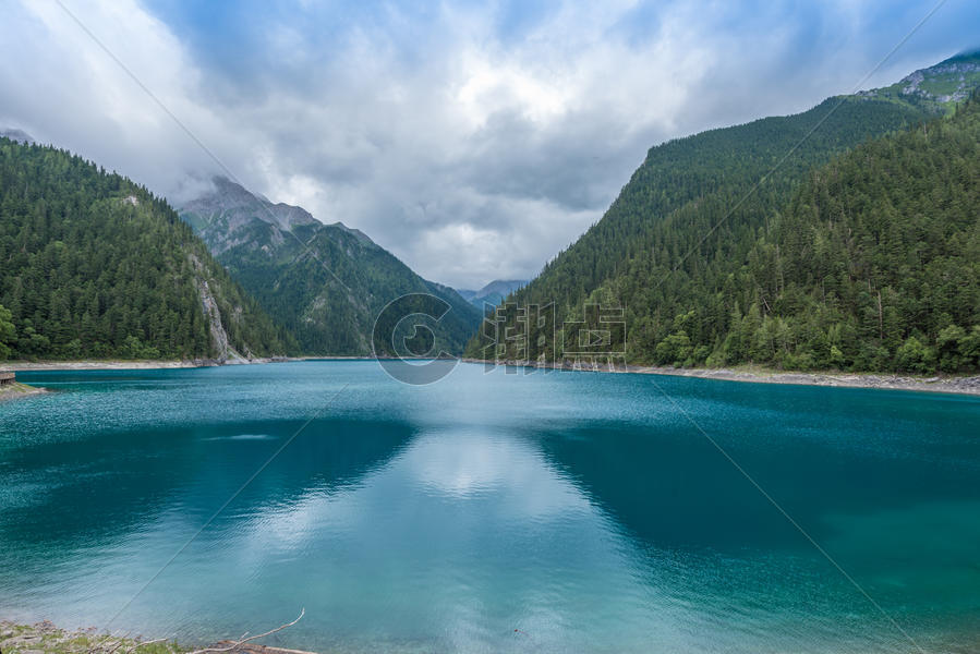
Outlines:
<svg viewBox="0 0 980 654"><path fill-rule="evenodd" d="M146 189L0 137L0 304L23 359L282 353L279 328ZM9 350L9 351L7 351Z"/></svg>

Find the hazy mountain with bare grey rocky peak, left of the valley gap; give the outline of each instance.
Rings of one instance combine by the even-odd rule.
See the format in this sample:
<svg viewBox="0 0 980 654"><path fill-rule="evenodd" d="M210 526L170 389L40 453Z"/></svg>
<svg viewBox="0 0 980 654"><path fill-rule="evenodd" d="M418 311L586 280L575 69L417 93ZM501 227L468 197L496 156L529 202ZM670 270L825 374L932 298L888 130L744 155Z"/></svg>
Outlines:
<svg viewBox="0 0 980 654"><path fill-rule="evenodd" d="M367 355L386 304L409 293L441 299L435 344L460 353L480 312L448 287L426 281L363 232L324 225L305 209L275 204L216 178L180 208L214 256L311 355ZM383 343L374 348L388 349Z"/></svg>

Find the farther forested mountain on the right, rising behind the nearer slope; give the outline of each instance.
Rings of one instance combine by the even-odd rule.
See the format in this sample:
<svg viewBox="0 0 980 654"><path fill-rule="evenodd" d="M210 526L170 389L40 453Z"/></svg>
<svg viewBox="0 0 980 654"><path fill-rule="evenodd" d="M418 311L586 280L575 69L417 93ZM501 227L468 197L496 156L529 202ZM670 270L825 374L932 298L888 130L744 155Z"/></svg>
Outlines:
<svg viewBox="0 0 980 654"><path fill-rule="evenodd" d="M613 342L609 349L625 351L631 362L755 361L748 353L748 359L729 359L724 342L755 300L769 312L771 298L749 298L739 289L750 257L760 252L760 240L772 238L811 171L870 138L954 111L978 83L980 57L967 53L883 89L828 98L802 113L655 146L605 216L515 299L525 305L554 302L559 326L582 320L586 304L624 307L625 342ZM680 331L697 344L689 353L681 348L688 355L677 359L669 342L661 344ZM506 356L560 359L573 349L568 346L578 334L559 330L558 338L543 347L534 344L539 336L532 329L527 351L512 341ZM485 338L474 339L468 353L484 355L487 344ZM880 360L881 366L893 363ZM828 364L814 359L813 365ZM849 365L868 370L869 364L851 360Z"/></svg>

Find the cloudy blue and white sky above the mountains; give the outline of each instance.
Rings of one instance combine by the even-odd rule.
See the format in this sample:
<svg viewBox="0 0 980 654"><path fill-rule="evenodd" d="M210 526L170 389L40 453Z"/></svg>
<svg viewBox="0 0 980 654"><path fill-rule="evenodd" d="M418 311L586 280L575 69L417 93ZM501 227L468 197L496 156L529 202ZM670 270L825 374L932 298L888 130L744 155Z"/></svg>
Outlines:
<svg viewBox="0 0 980 654"><path fill-rule="evenodd" d="M651 146L980 46L946 0L882 63L936 4L8 0L0 129L176 205L230 171L479 288L536 275Z"/></svg>

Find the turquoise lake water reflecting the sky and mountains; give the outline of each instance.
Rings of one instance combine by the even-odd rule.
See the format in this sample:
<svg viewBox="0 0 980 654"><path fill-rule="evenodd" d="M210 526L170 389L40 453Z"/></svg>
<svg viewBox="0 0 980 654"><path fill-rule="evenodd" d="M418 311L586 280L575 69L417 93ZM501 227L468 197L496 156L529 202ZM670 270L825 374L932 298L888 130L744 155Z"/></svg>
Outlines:
<svg viewBox="0 0 980 654"><path fill-rule="evenodd" d="M268 642L341 653L980 647L978 398L373 362L19 377L58 392L0 404L0 617L194 644L305 607Z"/></svg>

